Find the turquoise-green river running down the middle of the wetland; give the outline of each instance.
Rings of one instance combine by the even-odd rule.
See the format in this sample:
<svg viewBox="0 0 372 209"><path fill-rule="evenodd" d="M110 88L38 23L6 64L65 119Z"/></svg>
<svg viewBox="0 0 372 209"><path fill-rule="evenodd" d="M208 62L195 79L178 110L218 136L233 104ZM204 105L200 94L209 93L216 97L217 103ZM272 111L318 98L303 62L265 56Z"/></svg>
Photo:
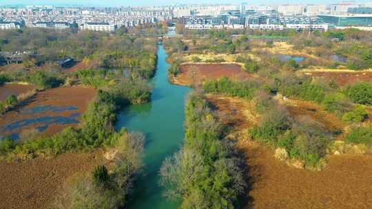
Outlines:
<svg viewBox="0 0 372 209"><path fill-rule="evenodd" d="M144 153L145 176L138 180L130 207L134 209L177 208L178 203L169 202L158 186L158 171L165 157L172 156L183 143L185 120L185 97L188 87L172 85L168 81L167 54L163 45L158 45L156 74L152 80L152 101L131 105L118 115L116 129L142 131L146 135Z"/></svg>

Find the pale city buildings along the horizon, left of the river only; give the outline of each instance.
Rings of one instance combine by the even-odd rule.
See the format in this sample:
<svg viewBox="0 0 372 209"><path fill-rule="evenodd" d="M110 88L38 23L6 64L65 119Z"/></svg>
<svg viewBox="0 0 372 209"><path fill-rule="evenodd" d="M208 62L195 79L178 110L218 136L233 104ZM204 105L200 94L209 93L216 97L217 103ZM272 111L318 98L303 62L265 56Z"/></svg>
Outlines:
<svg viewBox="0 0 372 209"><path fill-rule="evenodd" d="M0 29L30 27L113 31L172 19L170 8L85 8L26 6L0 8Z"/></svg>

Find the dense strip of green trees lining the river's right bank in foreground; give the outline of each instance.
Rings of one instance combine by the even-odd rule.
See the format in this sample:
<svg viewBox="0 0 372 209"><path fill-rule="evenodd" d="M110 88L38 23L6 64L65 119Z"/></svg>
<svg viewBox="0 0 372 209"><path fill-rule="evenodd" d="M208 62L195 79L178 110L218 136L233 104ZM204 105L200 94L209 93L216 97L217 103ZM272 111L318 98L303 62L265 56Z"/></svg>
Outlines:
<svg viewBox="0 0 372 209"><path fill-rule="evenodd" d="M181 208L234 208L246 185L241 160L203 96L189 96L185 126L185 146L161 168L165 196Z"/></svg>

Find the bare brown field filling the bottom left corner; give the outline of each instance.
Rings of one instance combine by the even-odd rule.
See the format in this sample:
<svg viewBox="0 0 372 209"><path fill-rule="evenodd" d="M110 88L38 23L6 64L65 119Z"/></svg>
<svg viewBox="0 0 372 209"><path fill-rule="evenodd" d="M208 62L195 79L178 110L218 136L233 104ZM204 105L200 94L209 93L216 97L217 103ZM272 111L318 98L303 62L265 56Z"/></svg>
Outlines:
<svg viewBox="0 0 372 209"><path fill-rule="evenodd" d="M91 170L102 153L68 153L27 163L0 162L0 208L53 208L54 197L68 177Z"/></svg>

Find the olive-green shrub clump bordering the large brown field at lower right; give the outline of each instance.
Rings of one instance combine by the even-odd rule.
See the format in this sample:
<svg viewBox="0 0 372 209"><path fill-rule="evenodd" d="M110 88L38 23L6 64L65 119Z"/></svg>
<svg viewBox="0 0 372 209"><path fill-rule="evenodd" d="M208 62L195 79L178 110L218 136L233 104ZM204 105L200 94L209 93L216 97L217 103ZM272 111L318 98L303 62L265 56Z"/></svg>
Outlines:
<svg viewBox="0 0 372 209"><path fill-rule="evenodd" d="M274 107L250 135L258 142L285 148L291 159L301 160L308 168L317 168L326 155L329 139L316 124L292 120L285 109Z"/></svg>

